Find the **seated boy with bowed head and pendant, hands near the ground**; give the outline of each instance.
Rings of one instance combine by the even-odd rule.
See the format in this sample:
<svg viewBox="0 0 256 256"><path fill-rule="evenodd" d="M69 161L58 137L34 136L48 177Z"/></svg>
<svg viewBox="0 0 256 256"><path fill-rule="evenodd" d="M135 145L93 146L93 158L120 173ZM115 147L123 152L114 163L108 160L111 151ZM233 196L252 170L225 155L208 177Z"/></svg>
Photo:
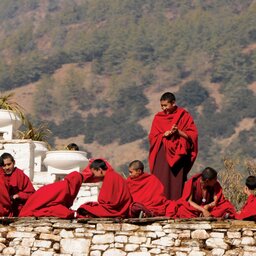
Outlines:
<svg viewBox="0 0 256 256"><path fill-rule="evenodd" d="M234 206L225 199L217 172L207 167L186 183L181 199L177 201L177 218L222 217L233 218Z"/></svg>

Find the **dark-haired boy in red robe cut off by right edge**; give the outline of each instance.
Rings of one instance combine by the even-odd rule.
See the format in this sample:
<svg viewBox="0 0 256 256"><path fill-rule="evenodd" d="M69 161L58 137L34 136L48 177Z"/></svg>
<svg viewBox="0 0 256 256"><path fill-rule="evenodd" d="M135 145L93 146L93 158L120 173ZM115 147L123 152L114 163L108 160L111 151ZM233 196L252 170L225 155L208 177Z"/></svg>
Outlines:
<svg viewBox="0 0 256 256"><path fill-rule="evenodd" d="M238 220L256 221L256 176L249 176L245 181L244 193L248 196L241 211L237 212L235 218Z"/></svg>

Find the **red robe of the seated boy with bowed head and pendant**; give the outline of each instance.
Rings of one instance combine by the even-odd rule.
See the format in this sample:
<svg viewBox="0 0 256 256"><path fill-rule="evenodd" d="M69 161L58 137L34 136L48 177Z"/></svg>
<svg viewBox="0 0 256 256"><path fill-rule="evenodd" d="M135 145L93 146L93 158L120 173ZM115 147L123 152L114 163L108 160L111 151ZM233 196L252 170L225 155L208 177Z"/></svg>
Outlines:
<svg viewBox="0 0 256 256"><path fill-rule="evenodd" d="M235 215L235 208L228 200L225 199L219 182L217 182L213 188L209 188L206 198L204 198L206 201L203 202L201 177L201 174L196 174L186 182L182 198L177 202L178 211L176 217L195 218L201 216L202 212L195 209L188 202L188 199L192 194L192 201L200 206L213 202L213 197L217 196L216 205L209 209L211 216L224 218L226 217L226 214L228 214L229 218L233 218Z"/></svg>

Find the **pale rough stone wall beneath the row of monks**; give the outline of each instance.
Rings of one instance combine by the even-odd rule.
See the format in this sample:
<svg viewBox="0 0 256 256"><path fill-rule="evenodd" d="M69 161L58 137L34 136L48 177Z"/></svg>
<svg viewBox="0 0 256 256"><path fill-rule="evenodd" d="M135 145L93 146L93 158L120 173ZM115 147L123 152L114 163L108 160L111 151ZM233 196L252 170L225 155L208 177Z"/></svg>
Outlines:
<svg viewBox="0 0 256 256"><path fill-rule="evenodd" d="M256 224L216 219L1 219L0 255L256 255Z"/></svg>

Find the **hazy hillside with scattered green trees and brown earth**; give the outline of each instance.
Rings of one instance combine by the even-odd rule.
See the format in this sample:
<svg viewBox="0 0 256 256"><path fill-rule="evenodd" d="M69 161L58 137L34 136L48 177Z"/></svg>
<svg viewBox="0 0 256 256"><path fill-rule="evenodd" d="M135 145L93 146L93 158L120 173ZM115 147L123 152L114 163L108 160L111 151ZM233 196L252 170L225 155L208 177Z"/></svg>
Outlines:
<svg viewBox="0 0 256 256"><path fill-rule="evenodd" d="M194 167L256 157L256 1L1 0L0 91L53 148L146 163L159 97L199 129Z"/></svg>

